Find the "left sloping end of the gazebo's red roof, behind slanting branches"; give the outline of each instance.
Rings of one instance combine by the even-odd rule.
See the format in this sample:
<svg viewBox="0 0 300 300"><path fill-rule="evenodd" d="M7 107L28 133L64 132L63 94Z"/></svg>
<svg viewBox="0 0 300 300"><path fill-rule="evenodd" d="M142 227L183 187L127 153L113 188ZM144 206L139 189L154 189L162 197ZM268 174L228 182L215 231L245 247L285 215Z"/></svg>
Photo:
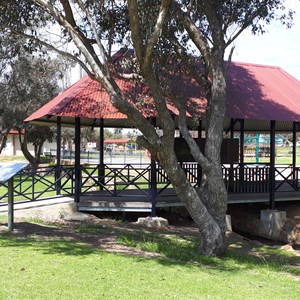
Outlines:
<svg viewBox="0 0 300 300"><path fill-rule="evenodd" d="M134 83L121 79L116 79L116 83L129 98L129 101L135 103L137 107L141 107L141 111L145 117L157 115L153 100L147 93L146 88L141 90ZM139 104L139 101L143 102L143 104ZM171 104L167 106L171 112L177 114L176 108ZM112 106L104 88L87 75L26 118L25 122L40 119L47 115L90 119L127 118L126 115Z"/></svg>

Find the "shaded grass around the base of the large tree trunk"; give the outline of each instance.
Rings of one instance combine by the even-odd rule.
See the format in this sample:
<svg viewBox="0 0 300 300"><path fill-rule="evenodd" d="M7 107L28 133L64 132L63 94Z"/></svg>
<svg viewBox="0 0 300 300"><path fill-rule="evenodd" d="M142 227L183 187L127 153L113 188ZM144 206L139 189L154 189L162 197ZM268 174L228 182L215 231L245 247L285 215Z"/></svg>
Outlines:
<svg viewBox="0 0 300 300"><path fill-rule="evenodd" d="M205 257L199 254L199 240L191 236L175 236L145 232L119 232L121 244L137 247L144 251L162 254L168 260L162 264L181 263L205 265L218 268L220 271L241 271L257 268L269 268L274 271L285 271L300 275L300 258L289 255L279 249L268 249L249 241L235 242L222 258Z"/></svg>

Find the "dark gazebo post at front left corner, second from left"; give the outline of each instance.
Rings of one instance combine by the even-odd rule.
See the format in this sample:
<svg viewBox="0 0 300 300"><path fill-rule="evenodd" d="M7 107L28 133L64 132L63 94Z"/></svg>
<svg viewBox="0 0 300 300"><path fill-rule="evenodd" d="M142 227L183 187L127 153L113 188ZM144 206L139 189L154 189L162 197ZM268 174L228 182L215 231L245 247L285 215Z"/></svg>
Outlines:
<svg viewBox="0 0 300 300"><path fill-rule="evenodd" d="M80 170L80 118L75 118L75 195L76 203L80 201L81 170Z"/></svg>

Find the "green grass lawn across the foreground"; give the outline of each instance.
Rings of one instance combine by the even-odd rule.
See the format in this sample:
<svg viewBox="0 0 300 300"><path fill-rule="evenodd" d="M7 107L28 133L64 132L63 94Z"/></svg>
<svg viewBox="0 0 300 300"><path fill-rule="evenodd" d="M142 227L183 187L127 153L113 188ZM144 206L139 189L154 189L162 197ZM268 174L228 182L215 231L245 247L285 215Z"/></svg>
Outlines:
<svg viewBox="0 0 300 300"><path fill-rule="evenodd" d="M40 225L42 226L42 225ZM61 235L0 234L0 299L298 299L300 270L290 255L197 254L192 236L77 226L78 235L116 236L116 244L161 257L113 254ZM41 229L42 230L42 229ZM56 229L54 228L54 231ZM41 231L42 232L42 231ZM99 235L99 236L98 236ZM104 240L103 240L104 241ZM263 251L261 251L263 253ZM269 259L273 257L274 259ZM298 278L299 279L299 278Z"/></svg>

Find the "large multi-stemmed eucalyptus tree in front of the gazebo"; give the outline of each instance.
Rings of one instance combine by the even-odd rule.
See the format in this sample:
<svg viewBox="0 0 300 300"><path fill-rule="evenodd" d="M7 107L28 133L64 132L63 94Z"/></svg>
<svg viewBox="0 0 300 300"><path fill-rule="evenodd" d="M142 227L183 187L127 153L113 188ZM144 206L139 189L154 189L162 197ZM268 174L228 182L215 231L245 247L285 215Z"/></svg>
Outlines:
<svg viewBox="0 0 300 300"><path fill-rule="evenodd" d="M224 253L227 194L220 163L226 105L224 53L246 28L258 33L273 19L289 20L291 13L285 14L284 1L6 0L4 3L6 5L0 6L0 15L5 32L23 38L30 49L46 47L73 59L92 79L101 83L112 105L126 114L142 132L138 142L157 158L196 222L201 239L200 252L205 255ZM47 32L51 26L58 28L55 36L59 39L56 38L55 43L41 30L43 26ZM69 43L68 47L62 46L64 42ZM129 44L134 48L132 68L120 72L111 64L110 51L114 43ZM203 72L195 68L190 44L198 51ZM167 69L171 61L173 69ZM184 95L176 96L172 90L176 75L174 66L176 72L185 70L185 78L196 80L199 93L201 90L206 94L204 152L188 131L187 99ZM143 82L149 87L160 134L137 105L128 101L130 97L120 90L115 77L134 80L136 84ZM173 101L178 108L180 131L203 170L200 189L191 185L178 164L174 150L176 125L168 101Z"/></svg>

